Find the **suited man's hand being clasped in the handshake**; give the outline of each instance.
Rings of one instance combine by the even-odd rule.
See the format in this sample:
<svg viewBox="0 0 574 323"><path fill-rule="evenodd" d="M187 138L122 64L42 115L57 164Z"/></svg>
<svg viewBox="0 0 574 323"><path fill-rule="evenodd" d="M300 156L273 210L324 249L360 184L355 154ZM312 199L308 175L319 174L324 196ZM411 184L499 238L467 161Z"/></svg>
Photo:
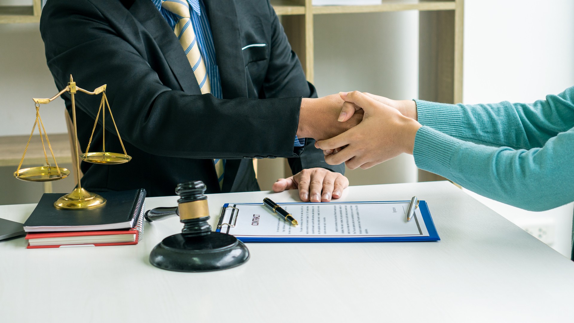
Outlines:
<svg viewBox="0 0 574 323"><path fill-rule="evenodd" d="M357 125L363 118L362 110L348 117L346 122L337 121L343 103L339 94L316 99L303 98L299 111L297 137L328 139Z"/></svg>

